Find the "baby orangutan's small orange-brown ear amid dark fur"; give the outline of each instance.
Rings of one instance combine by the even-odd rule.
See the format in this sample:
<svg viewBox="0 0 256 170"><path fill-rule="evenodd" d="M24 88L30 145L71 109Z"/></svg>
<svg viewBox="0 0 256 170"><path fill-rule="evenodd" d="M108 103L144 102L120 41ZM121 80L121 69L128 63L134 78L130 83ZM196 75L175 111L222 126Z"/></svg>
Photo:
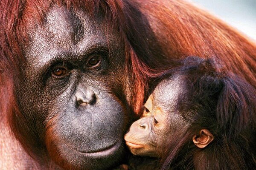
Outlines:
<svg viewBox="0 0 256 170"><path fill-rule="evenodd" d="M214 136L207 129L200 130L199 135L195 135L192 138L195 146L197 146L199 148L206 147L209 143L212 142L213 139L214 139Z"/></svg>

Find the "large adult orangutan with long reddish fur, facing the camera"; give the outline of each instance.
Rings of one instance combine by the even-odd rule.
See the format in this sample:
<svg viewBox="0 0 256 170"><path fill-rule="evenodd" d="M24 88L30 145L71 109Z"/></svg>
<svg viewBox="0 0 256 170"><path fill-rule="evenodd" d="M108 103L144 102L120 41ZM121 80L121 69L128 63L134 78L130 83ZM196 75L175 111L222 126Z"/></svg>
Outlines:
<svg viewBox="0 0 256 170"><path fill-rule="evenodd" d="M173 59L217 56L256 84L256 46L184 1L2 0L0 11L0 169L115 167Z"/></svg>

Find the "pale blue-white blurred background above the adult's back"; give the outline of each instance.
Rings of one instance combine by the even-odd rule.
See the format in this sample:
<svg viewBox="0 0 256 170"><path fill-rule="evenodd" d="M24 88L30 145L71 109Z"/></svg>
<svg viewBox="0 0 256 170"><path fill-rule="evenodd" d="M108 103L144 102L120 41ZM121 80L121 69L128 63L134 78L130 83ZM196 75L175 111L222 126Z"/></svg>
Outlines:
<svg viewBox="0 0 256 170"><path fill-rule="evenodd" d="M256 40L256 0L189 0Z"/></svg>

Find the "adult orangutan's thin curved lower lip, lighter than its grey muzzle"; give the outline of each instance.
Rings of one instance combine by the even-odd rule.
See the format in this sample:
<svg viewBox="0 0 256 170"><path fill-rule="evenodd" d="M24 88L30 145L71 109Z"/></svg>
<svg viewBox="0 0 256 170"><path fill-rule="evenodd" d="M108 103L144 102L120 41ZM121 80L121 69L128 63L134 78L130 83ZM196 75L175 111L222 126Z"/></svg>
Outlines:
<svg viewBox="0 0 256 170"><path fill-rule="evenodd" d="M88 156L88 157L105 157L105 156L109 156L112 155L113 153L116 153L116 151L119 149L119 147L122 144L122 140L120 139L116 144L113 144L112 146L103 148L102 150L97 150L95 152L81 152L76 150L79 153L82 153L84 156Z"/></svg>

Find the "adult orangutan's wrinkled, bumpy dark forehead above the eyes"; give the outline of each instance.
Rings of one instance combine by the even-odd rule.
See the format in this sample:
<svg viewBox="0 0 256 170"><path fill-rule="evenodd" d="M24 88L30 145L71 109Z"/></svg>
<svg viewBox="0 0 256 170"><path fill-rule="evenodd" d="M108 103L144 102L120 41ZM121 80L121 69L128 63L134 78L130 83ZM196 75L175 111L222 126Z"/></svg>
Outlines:
<svg viewBox="0 0 256 170"><path fill-rule="evenodd" d="M107 50L114 36L108 33L107 40L103 24L100 14L91 17L84 10L53 6L44 22L30 29L26 58L33 65L44 65L59 56L84 57L98 49Z"/></svg>

